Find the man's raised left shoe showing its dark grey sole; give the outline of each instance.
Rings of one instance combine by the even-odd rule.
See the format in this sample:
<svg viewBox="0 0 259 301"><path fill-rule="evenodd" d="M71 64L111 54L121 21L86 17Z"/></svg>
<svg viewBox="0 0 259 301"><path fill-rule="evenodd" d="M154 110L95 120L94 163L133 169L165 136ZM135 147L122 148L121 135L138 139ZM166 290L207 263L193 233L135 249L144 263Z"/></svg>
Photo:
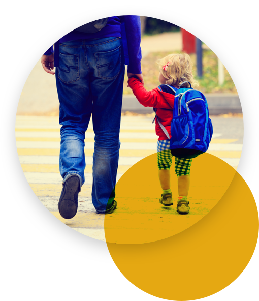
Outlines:
<svg viewBox="0 0 259 301"><path fill-rule="evenodd" d="M69 177L63 185L59 202L59 213L64 219L72 219L77 213L80 179L77 175Z"/></svg>

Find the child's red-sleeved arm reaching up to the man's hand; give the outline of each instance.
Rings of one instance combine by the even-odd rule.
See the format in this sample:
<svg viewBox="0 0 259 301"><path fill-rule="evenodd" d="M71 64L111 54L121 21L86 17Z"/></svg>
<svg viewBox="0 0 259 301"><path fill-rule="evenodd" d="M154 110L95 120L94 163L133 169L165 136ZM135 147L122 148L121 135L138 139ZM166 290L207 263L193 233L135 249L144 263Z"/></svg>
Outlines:
<svg viewBox="0 0 259 301"><path fill-rule="evenodd" d="M128 80L128 85L132 88L133 94L144 107L156 107L161 95L157 89L147 91L141 81L135 77Z"/></svg>

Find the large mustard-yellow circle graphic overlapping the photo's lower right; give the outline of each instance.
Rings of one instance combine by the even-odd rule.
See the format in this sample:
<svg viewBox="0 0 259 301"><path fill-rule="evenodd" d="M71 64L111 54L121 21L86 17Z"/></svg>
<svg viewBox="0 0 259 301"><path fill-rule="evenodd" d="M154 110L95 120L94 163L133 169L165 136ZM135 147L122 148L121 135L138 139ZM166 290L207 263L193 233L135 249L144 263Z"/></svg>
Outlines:
<svg viewBox="0 0 259 301"><path fill-rule="evenodd" d="M132 239L128 229L123 230L121 228L120 231L124 232L124 236L128 240L124 239L125 243L121 244L107 242L110 255L122 275L137 288L158 298L189 301L205 298L223 290L241 275L251 260L257 244L258 210L247 183L237 171L233 172L232 167L225 162L222 163L222 160L213 158L209 154L203 154L200 157L201 163L204 161L204 164L206 162L210 164L206 168L203 164L199 168L193 164L190 175L195 177L195 169L197 169L200 175L205 174L207 177L204 186L201 179L193 178L193 194L201 193L206 185L211 185L211 188L208 187L205 190L204 201L208 199L208 202L212 202L213 208L203 218L193 223L191 227L185 227L184 231L178 231L178 234L175 233L174 235L175 231L172 230L173 235L165 239L158 240L163 235L153 233L152 242L137 244ZM148 162L150 159L143 160ZM217 164L213 166L213 163ZM143 162L136 165L138 164L145 166ZM137 167L135 166L133 169L137 169ZM139 180L143 179L143 184L147 178L152 177L151 173L148 174L148 172L150 171L142 169L141 175L136 174L135 176ZM156 177L155 174L153 176ZM134 204L141 202L141 197L145 194L141 194L140 191L143 191L148 184L147 181L146 186L143 184L141 189L134 190L134 183L137 182L134 177L132 178L133 184L128 183L131 189L128 191L123 189L125 196L131 192L132 196L135 195L138 198ZM121 193L119 186L118 182L118 187L116 186L116 193L118 188L118 194ZM225 190L226 186L229 187ZM223 195L220 196L222 193ZM211 195L210 198L209 195ZM220 197L219 200L217 200L218 197ZM131 201L131 198L128 198L127 202ZM142 210L154 211L154 205L151 202L143 202L145 206L142 204ZM128 206L130 207L130 204ZM189 214L191 214L191 210L195 210L194 202L190 202L190 208ZM159 217L163 216L163 209L157 203L156 212L160 210ZM118 210L117 218L114 214L114 219L117 219L118 222L119 216L120 219L123 218L124 210L123 208L120 209L119 198L116 210ZM170 213L172 221L175 219L174 226L181 218L191 217L191 215L177 216L174 208L170 209ZM138 214L141 215L140 212ZM144 219L145 213L142 216ZM133 220L134 218L132 218L132 223ZM137 217L136 223L138 226L140 225ZM108 225L111 226L112 223L110 222ZM118 227L121 225L118 224ZM130 223L125 223L125 225L128 226ZM115 227L115 224L113 226ZM111 228L105 229L108 238L113 238L112 235L109 235ZM134 228L134 223L132 228ZM120 231L116 233L122 242ZM163 228L160 231L163 232ZM137 231L133 232L137 233ZM147 232L146 234L148 236ZM154 241L155 238L157 241ZM152 240L151 234L149 239Z"/></svg>

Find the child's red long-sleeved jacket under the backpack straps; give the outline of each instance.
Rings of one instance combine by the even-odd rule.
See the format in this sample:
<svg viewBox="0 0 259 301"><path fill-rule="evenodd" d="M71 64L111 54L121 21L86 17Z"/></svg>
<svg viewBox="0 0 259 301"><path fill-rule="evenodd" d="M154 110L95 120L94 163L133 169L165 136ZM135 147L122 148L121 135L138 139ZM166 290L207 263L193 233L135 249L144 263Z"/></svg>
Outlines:
<svg viewBox="0 0 259 301"><path fill-rule="evenodd" d="M171 138L171 121L173 118L173 108L175 96L170 93L161 91L161 88L156 87L151 91L147 91L140 80L131 77L128 80L128 85L132 88L137 100L144 107L157 108L156 115L160 123L166 128ZM155 133L159 136L158 140L167 140L168 137L159 126L155 119Z"/></svg>

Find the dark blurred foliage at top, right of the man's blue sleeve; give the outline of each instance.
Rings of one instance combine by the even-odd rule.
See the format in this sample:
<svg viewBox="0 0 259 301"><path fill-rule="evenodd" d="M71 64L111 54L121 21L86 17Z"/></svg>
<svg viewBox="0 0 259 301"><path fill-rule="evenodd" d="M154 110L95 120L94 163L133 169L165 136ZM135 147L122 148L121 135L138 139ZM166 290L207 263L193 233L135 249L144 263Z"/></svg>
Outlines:
<svg viewBox="0 0 259 301"><path fill-rule="evenodd" d="M180 31L180 27L171 22L153 18L146 17L144 34L146 35L156 35L163 32L176 32Z"/></svg>

